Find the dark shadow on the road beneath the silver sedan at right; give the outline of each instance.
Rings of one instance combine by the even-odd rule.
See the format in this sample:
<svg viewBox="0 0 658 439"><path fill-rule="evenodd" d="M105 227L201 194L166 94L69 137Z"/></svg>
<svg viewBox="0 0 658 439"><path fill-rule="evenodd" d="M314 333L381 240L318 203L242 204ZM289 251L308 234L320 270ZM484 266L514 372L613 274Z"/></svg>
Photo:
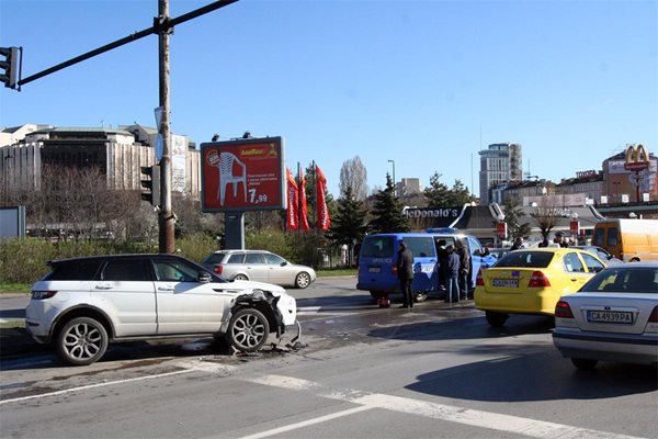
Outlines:
<svg viewBox="0 0 658 439"><path fill-rule="evenodd" d="M581 371L563 359L557 349L527 350L527 346L496 346L502 358L426 373L407 389L434 396L504 403L602 399L658 390L658 374L651 365L600 362L592 371Z"/></svg>

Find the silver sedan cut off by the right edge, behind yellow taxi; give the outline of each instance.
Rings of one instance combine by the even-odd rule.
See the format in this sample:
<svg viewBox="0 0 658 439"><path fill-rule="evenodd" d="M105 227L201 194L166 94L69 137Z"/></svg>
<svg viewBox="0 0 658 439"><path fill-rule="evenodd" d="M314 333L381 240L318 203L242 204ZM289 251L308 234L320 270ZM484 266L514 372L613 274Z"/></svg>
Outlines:
<svg viewBox="0 0 658 439"><path fill-rule="evenodd" d="M658 262L608 267L555 307L553 342L579 369L658 363Z"/></svg>

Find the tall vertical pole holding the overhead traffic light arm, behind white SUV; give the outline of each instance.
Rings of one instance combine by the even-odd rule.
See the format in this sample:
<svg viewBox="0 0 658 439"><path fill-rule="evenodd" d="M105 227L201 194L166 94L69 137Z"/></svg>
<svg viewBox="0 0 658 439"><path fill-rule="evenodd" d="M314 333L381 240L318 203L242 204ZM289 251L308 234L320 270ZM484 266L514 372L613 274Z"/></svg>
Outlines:
<svg viewBox="0 0 658 439"><path fill-rule="evenodd" d="M169 0L158 0L160 106L162 119L158 133L162 136L162 158L160 159L160 211L158 212L158 243L161 254L175 251L174 217L171 209L171 121L169 99Z"/></svg>

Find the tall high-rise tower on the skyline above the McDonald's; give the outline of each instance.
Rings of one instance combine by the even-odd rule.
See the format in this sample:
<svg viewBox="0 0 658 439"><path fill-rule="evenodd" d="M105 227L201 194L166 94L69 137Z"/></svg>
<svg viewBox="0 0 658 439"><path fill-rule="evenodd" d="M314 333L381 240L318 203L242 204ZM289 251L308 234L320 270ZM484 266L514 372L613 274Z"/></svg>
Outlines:
<svg viewBox="0 0 658 439"><path fill-rule="evenodd" d="M491 144L479 151L480 203L491 202L491 188L509 181L522 181L521 145L512 143Z"/></svg>

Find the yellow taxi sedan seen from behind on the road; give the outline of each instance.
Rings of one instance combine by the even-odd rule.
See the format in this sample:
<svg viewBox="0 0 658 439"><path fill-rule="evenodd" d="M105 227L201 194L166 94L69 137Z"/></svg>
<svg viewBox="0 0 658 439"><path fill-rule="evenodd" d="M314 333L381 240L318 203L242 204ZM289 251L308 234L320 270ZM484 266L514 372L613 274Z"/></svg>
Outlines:
<svg viewBox="0 0 658 439"><path fill-rule="evenodd" d="M565 294L578 291L605 268L594 255L576 248L510 251L477 275L475 306L489 325L504 325L510 314L554 315Z"/></svg>

